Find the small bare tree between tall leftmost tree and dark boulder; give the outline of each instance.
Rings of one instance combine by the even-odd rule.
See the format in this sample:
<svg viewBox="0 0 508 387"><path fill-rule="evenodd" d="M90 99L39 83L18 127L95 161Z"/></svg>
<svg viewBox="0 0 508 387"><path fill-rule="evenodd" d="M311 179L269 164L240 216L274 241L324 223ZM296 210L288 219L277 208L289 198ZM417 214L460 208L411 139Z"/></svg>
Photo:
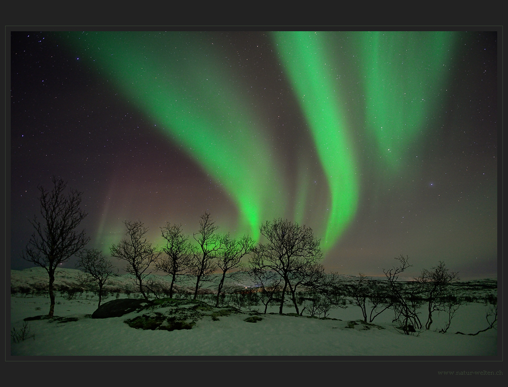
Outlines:
<svg viewBox="0 0 508 387"><path fill-rule="evenodd" d="M100 307L102 288L109 278L117 275L118 270L115 270L111 261L107 260L97 249L87 249L79 253L78 267L87 273L84 278L85 282L97 283L99 295L97 308Z"/></svg>

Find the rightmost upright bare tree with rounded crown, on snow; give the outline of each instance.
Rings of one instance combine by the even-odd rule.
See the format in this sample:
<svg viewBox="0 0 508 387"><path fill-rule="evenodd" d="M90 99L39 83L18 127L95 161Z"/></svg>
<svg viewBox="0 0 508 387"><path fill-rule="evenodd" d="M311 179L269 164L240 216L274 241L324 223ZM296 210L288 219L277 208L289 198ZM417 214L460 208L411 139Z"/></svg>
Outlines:
<svg viewBox="0 0 508 387"><path fill-rule="evenodd" d="M428 302L427 322L425 329L430 329L432 325L432 313L444 311L447 306L450 306L450 301L453 300L453 294L450 292L450 284L458 281L457 272L449 272L444 262L439 261L439 265L433 267L431 270L424 269L421 275L415 278L422 286L424 297ZM453 315L452 315L453 316Z"/></svg>

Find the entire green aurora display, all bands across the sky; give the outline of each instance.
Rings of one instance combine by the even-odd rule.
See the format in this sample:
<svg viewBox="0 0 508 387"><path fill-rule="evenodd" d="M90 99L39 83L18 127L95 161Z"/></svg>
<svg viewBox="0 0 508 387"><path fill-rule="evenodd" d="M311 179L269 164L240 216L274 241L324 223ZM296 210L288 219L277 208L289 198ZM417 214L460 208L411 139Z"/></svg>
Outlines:
<svg viewBox="0 0 508 387"><path fill-rule="evenodd" d="M195 159L234 200L236 234L259 240L259 226L292 211L302 223L315 193L305 161L298 161L294 208L278 167L270 127L254 111L217 51L196 32L65 32L60 36L114 82L125 99ZM335 37L345 37L342 50ZM387 178L407 165L411 145L439 109L439 94L453 57L451 32L273 32L284 73L305 116L328 184L321 245L329 251L354 219L361 182L355 141L358 129L377 145ZM348 49L349 47L349 49ZM342 51L341 51L342 50ZM349 65L340 56L348 59ZM356 66L363 111L348 112L348 87L337 72ZM349 105L348 105L349 106ZM354 114L354 116L352 116ZM360 123L363 127L356 127ZM289 212L288 212L289 211ZM317 227L317 228L319 228ZM103 228L103 227L102 227Z"/></svg>

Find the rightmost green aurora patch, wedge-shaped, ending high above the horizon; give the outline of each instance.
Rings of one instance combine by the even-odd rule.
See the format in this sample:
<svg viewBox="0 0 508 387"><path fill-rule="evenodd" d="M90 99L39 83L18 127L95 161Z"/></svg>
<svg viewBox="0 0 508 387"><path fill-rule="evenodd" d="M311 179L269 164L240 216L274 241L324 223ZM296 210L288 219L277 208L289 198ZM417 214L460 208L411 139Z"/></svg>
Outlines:
<svg viewBox="0 0 508 387"><path fill-rule="evenodd" d="M411 157L430 117L446 95L454 56L454 32L358 32L351 34L365 90L367 131L374 136L383 170L391 174Z"/></svg>

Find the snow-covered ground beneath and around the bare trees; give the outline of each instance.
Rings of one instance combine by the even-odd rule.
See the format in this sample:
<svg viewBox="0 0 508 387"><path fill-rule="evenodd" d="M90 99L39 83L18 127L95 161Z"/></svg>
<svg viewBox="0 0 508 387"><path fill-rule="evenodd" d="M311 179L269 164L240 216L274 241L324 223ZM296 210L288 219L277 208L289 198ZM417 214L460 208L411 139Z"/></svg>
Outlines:
<svg viewBox="0 0 508 387"><path fill-rule="evenodd" d="M33 274L33 273L32 273ZM69 276L69 272L66 276ZM14 276L13 276L14 277ZM60 275L61 281L62 275ZM15 281L13 280L13 283ZM58 292L57 292L58 294ZM121 295L125 297L125 295ZM103 303L115 299L109 296ZM318 356L340 359L344 356L489 356L497 355L498 330L490 329L476 336L454 334L475 333L487 327L482 303L462 305L446 334L434 329L444 325L446 316L436 316L433 330L419 335L401 334L392 324L393 313L386 311L374 320L377 327L363 330L349 321L362 318L356 306L333 309L331 318L262 314L261 321L246 322L245 314L221 316L220 320L203 318L190 330L140 330L124 323L133 312L122 317L92 319L97 298L88 293L68 300L57 296L55 316L76 317L75 321L24 321L45 315L49 310L47 296L11 295L10 329L30 329L28 337L10 343L12 359L20 356ZM269 312L277 312L272 308ZM285 313L294 312L290 307ZM422 310L421 319L425 320ZM31 337L33 335L33 337ZM325 358L326 357L326 358ZM337 358L339 357L339 358Z"/></svg>

